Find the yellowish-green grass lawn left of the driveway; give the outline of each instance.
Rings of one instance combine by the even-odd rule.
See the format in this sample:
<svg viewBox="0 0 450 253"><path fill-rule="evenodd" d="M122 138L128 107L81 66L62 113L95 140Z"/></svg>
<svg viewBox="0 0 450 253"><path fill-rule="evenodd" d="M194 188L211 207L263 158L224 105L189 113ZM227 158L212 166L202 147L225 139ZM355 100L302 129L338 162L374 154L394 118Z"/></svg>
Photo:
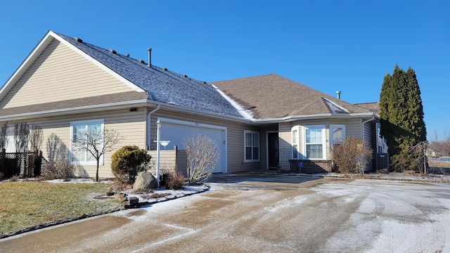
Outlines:
<svg viewBox="0 0 450 253"><path fill-rule="evenodd" d="M117 199L96 200L104 183L0 183L0 238L27 228L120 209Z"/></svg>

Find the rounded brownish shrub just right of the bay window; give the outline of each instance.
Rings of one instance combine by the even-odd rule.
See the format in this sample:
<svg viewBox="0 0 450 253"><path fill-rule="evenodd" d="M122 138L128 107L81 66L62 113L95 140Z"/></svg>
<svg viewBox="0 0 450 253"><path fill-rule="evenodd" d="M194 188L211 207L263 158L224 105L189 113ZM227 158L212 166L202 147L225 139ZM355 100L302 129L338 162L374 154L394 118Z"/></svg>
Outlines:
<svg viewBox="0 0 450 253"><path fill-rule="evenodd" d="M365 141L347 136L345 142L333 147L332 157L335 166L344 174L362 172L364 164L372 160L373 151Z"/></svg>

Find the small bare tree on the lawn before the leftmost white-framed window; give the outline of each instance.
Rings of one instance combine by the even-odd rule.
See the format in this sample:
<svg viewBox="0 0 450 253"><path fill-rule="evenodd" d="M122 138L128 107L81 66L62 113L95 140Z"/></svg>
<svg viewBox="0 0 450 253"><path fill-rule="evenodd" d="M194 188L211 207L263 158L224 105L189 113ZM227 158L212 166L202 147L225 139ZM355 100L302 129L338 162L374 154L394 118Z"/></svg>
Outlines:
<svg viewBox="0 0 450 253"><path fill-rule="evenodd" d="M91 128L77 133L77 143L75 150L78 152L89 152L97 162L96 181L98 182L98 165L101 157L106 153L115 150L115 145L120 141L120 136L113 129Z"/></svg>

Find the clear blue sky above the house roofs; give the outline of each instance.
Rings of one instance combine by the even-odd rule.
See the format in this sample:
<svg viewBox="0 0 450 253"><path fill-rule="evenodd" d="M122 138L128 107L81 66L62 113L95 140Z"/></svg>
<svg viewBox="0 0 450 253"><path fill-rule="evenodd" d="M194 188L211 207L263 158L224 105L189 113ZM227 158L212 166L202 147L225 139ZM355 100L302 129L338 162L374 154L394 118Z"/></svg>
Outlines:
<svg viewBox="0 0 450 253"><path fill-rule="evenodd" d="M449 1L0 0L0 84L48 30L214 82L276 73L349 103L417 74L428 138L450 131ZM298 94L302 99L302 94Z"/></svg>

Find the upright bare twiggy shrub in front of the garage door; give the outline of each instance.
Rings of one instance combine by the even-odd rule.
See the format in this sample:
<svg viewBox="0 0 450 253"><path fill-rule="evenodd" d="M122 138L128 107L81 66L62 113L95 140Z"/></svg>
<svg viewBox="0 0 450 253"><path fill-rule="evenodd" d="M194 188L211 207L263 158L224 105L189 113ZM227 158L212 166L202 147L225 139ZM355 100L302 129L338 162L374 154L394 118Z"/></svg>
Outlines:
<svg viewBox="0 0 450 253"><path fill-rule="evenodd" d="M183 141L188 164L186 172L189 184L203 183L212 175L219 162L219 148L214 139L202 136L191 136Z"/></svg>

